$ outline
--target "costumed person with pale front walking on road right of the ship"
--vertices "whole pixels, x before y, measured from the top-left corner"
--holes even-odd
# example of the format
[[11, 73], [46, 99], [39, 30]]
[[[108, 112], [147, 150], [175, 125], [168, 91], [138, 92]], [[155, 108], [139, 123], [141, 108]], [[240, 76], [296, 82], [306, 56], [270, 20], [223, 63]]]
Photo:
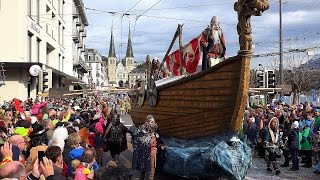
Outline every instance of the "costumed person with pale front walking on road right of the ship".
[[264, 129], [263, 141], [266, 148], [266, 161], [267, 161], [267, 170], [273, 170], [277, 175], [281, 173], [277, 164], [277, 156], [281, 155], [281, 150], [279, 148], [280, 143], [280, 133], [279, 133], [279, 120], [277, 117], [270, 119], [269, 124], [266, 129]]

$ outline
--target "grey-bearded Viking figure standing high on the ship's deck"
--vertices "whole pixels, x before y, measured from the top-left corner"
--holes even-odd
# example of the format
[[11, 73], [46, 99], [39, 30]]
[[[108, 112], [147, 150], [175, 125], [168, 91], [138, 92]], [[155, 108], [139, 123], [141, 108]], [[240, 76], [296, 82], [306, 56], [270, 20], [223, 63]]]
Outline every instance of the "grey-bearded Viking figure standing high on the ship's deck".
[[214, 66], [225, 59], [226, 42], [219, 19], [213, 16], [208, 27], [201, 36], [201, 46], [203, 49], [202, 70]]

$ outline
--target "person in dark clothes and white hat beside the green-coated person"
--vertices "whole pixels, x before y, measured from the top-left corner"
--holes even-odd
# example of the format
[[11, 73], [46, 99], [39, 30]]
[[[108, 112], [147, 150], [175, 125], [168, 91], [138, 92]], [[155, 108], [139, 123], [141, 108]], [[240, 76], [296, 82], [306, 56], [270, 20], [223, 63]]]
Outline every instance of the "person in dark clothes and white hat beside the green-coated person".
[[294, 121], [292, 123], [292, 129], [288, 136], [288, 147], [292, 160], [292, 167], [290, 169], [291, 171], [299, 170], [299, 143], [299, 122]]

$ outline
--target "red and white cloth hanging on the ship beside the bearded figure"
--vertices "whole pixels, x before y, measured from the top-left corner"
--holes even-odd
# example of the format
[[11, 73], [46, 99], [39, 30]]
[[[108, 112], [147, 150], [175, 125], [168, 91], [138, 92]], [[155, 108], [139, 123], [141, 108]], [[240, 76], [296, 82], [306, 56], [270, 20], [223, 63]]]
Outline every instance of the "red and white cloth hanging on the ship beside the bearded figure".
[[[183, 67], [186, 72], [194, 73], [197, 70], [200, 62], [200, 41], [201, 36], [192, 39], [188, 44], [184, 46], [183, 50]], [[180, 50], [176, 50], [169, 54], [166, 59], [166, 65], [170, 72], [176, 76], [180, 76]]]

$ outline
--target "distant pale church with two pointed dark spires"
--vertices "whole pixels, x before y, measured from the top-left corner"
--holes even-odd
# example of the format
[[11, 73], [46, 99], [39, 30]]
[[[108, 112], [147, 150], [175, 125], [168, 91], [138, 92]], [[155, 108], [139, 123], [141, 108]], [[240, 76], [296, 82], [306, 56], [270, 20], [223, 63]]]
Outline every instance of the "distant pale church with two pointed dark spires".
[[[119, 57], [121, 58], [121, 57]], [[110, 47], [108, 55], [108, 77], [109, 84], [119, 85], [126, 83], [129, 73], [135, 68], [134, 56], [132, 50], [131, 33], [129, 28], [128, 44], [126, 57], [117, 61], [116, 50], [114, 46], [113, 29], [111, 29]], [[121, 82], [122, 81], [122, 82]]]

